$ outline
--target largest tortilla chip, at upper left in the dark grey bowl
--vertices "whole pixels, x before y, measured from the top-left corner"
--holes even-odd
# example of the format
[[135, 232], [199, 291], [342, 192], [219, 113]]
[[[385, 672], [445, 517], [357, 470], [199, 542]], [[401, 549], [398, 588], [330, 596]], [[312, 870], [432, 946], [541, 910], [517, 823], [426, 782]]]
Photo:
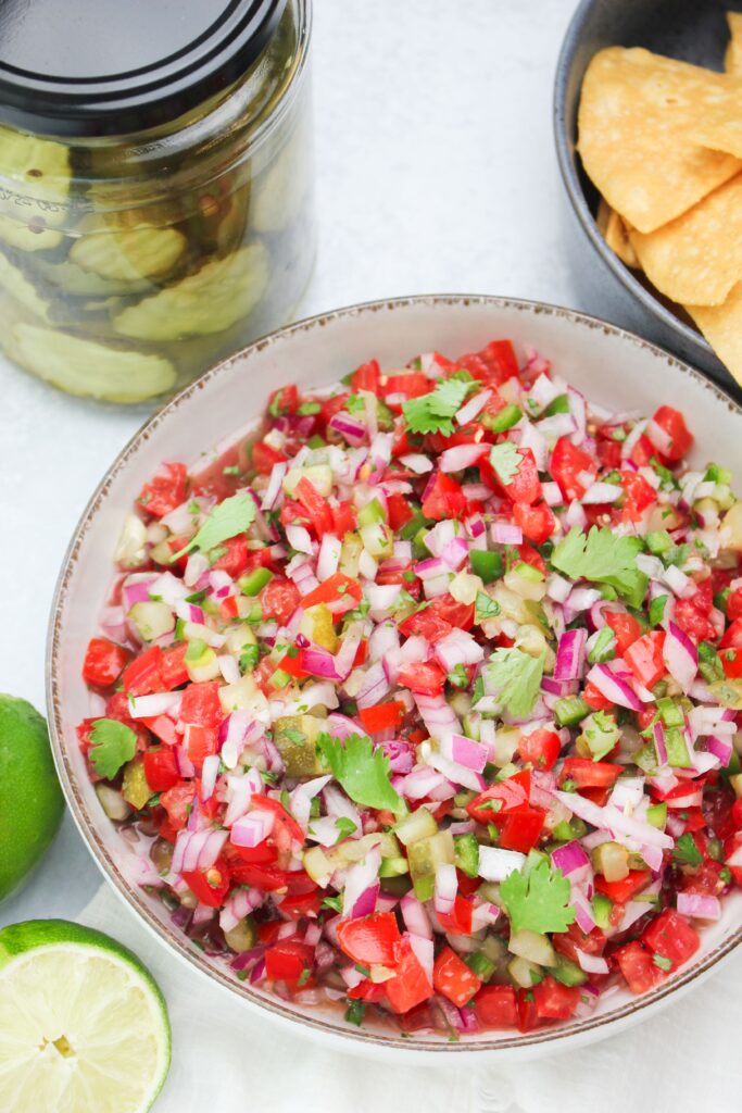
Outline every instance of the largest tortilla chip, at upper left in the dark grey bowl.
[[600, 193], [633, 227], [654, 232], [742, 169], [740, 159], [690, 138], [716, 106], [742, 117], [742, 80], [641, 48], [610, 47], [593, 58], [578, 149]]

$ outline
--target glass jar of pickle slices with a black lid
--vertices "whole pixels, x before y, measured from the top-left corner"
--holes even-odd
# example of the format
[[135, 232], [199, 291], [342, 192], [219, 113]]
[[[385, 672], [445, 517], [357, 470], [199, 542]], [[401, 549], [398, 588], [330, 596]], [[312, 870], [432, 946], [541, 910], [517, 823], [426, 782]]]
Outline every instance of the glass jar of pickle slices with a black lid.
[[[174, 16], [190, 10], [177, 3]], [[40, 4], [55, 6], [69, 12]], [[140, 48], [147, 55], [147, 4], [120, 7], [135, 24], [121, 48], [131, 67]], [[149, 48], [162, 57], [147, 56], [126, 88], [108, 38], [116, 77], [82, 93], [82, 66], [99, 70], [77, 55], [70, 65], [71, 47], [65, 78], [37, 82], [32, 96], [28, 81], [18, 89], [13, 58], [0, 58], [0, 347], [69, 393], [120, 403], [170, 394], [286, 321], [309, 278], [310, 0], [217, 3], [231, 23], [216, 60], [205, 60], [202, 7], [192, 3], [194, 42], [181, 53], [200, 53], [185, 76], [167, 26], [162, 48]], [[206, 7], [211, 21], [215, 0]], [[235, 9], [247, 21], [237, 31]], [[89, 11], [100, 18], [95, 2]], [[95, 27], [87, 33], [96, 39]]]

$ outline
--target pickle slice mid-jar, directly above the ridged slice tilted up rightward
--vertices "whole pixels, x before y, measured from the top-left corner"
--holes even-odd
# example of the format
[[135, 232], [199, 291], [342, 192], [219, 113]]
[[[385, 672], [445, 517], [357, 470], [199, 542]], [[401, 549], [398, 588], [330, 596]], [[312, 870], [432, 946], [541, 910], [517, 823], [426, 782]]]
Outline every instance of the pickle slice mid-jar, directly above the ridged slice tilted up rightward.
[[70, 250], [70, 262], [112, 282], [162, 278], [170, 274], [187, 247], [186, 237], [176, 228], [148, 224], [126, 227], [120, 220], [86, 218], [82, 230], [83, 235]]

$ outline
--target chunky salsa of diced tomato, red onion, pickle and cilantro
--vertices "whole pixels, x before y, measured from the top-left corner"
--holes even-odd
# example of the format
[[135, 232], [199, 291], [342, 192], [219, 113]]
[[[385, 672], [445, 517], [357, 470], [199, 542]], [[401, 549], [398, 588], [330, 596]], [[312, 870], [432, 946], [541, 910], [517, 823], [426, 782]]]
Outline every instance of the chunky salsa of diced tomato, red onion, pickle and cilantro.
[[687, 962], [742, 884], [742, 503], [508, 341], [137, 496], [79, 725], [137, 880], [284, 998], [455, 1037]]

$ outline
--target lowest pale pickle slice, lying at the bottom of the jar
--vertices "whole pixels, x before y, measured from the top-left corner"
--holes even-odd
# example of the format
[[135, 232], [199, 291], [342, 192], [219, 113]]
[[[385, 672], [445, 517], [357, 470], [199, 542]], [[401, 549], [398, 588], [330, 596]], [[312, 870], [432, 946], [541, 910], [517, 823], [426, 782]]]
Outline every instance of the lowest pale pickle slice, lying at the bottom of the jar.
[[27, 371], [68, 394], [108, 402], [142, 402], [169, 391], [176, 381], [176, 370], [164, 356], [23, 323], [11, 329], [7, 351]]

